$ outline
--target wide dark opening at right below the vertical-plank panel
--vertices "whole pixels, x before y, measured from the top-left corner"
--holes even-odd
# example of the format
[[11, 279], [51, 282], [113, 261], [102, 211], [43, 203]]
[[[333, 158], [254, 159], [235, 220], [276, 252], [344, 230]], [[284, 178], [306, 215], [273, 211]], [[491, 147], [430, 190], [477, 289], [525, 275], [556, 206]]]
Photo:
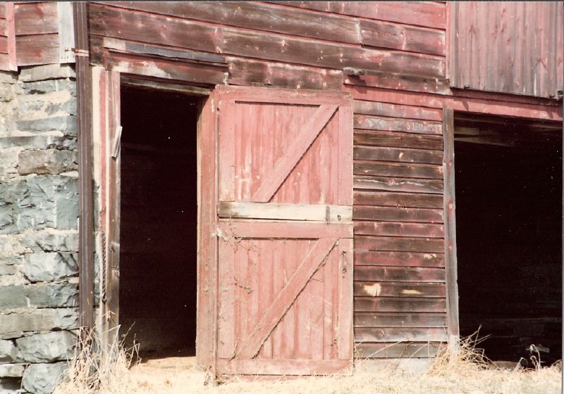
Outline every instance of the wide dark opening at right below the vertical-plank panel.
[[455, 193], [461, 336], [481, 326], [494, 361], [560, 359], [562, 124], [460, 115]]

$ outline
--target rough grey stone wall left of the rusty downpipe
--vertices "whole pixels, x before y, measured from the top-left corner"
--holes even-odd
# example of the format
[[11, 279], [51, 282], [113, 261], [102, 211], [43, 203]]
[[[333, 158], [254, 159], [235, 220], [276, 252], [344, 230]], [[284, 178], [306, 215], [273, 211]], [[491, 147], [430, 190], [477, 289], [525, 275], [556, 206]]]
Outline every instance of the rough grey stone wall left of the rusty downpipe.
[[51, 393], [78, 328], [75, 73], [0, 73], [0, 393]]

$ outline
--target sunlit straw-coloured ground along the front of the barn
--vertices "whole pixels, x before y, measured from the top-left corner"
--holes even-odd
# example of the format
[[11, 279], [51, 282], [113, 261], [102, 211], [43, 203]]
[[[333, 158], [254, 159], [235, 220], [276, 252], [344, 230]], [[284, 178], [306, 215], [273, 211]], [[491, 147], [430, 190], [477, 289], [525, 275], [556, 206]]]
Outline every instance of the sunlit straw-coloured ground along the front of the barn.
[[561, 393], [561, 372], [557, 367], [514, 371], [472, 370], [433, 374], [405, 371], [360, 372], [343, 377], [253, 380], [233, 379], [219, 385], [206, 384], [192, 357], [150, 360], [130, 369], [128, 386], [136, 394], [557, 394]]

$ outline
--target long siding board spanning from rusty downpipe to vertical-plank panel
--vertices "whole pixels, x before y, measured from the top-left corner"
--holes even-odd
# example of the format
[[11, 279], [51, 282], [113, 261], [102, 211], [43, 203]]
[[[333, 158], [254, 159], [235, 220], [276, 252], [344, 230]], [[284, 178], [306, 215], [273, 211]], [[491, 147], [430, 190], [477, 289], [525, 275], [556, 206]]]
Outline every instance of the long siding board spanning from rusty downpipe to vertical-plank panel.
[[108, 5], [92, 4], [90, 11], [92, 34], [108, 37], [130, 40], [143, 37], [145, 42], [152, 44], [166, 43], [178, 48], [341, 70], [347, 66], [377, 67], [379, 70], [426, 77], [443, 77], [446, 72], [444, 59], [431, 55], [380, 51], [277, 33], [216, 27]]

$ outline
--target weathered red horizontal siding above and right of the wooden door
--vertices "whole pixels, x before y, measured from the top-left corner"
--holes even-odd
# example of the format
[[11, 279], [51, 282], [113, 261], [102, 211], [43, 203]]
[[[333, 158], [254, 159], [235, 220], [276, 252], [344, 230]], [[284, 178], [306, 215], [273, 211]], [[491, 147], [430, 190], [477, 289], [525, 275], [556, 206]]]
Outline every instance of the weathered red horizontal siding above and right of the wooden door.
[[92, 61], [106, 68], [206, 86], [353, 94], [354, 321], [363, 357], [429, 357], [446, 341], [443, 108], [562, 120], [553, 101], [451, 90], [446, 8], [89, 4]]

